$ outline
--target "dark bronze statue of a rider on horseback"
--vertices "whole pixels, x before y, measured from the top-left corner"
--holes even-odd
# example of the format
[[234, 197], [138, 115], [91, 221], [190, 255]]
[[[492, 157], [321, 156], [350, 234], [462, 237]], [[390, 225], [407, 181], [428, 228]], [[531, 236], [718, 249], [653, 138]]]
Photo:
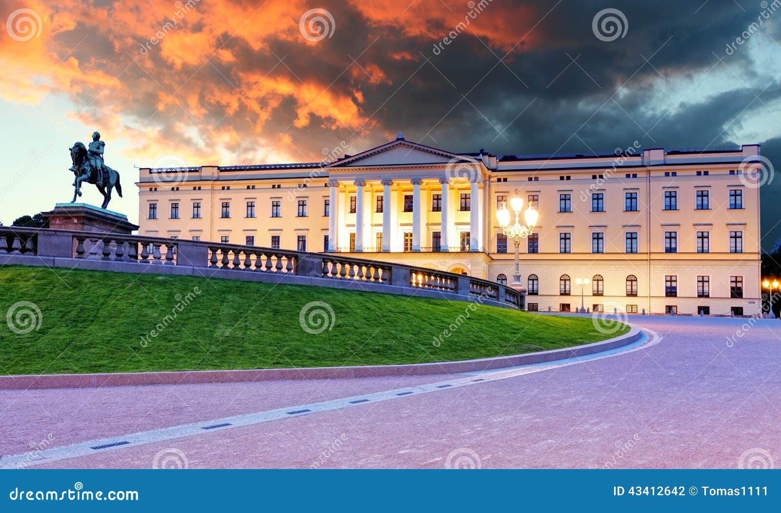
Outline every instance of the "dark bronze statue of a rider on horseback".
[[111, 201], [111, 189], [116, 189], [119, 197], [122, 197], [122, 186], [119, 185], [119, 173], [103, 162], [103, 149], [105, 143], [100, 140], [100, 133], [92, 133], [92, 142], [87, 148], [84, 143], [77, 142], [70, 148], [70, 160], [73, 161], [70, 171], [76, 175], [73, 181], [73, 200], [76, 203], [77, 196], [81, 196], [81, 183], [95, 184], [103, 195], [101, 208], [109, 206]]

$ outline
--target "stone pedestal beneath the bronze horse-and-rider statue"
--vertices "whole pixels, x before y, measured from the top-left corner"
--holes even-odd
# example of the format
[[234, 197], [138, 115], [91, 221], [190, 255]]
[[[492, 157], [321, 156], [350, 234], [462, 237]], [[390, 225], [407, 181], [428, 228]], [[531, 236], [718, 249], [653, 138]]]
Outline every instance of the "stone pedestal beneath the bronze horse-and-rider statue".
[[53, 211], [42, 214], [48, 219], [49, 228], [55, 230], [130, 235], [138, 229], [137, 225], [127, 221], [127, 215], [87, 203], [56, 203]]

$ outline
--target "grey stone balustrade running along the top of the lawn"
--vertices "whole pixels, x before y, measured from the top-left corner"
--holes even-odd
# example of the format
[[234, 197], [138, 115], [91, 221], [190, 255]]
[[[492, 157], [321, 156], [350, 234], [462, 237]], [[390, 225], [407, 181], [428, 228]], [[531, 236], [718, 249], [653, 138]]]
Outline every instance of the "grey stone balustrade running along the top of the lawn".
[[153, 272], [319, 285], [523, 309], [506, 285], [425, 267], [217, 242], [0, 226], [0, 265]]

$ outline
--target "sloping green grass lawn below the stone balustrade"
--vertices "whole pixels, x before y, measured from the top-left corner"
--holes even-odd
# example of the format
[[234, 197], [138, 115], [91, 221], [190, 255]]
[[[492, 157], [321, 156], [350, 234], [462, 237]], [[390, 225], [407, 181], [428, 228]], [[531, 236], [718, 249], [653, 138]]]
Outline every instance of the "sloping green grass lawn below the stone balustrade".
[[[40, 309], [37, 331], [17, 334], [2, 322], [20, 301]], [[333, 309], [332, 329], [302, 329], [299, 313], [312, 301]], [[470, 304], [299, 285], [0, 267], [0, 373], [428, 363], [563, 348], [629, 329], [604, 335], [588, 318]], [[150, 336], [159, 324], [165, 326]]]

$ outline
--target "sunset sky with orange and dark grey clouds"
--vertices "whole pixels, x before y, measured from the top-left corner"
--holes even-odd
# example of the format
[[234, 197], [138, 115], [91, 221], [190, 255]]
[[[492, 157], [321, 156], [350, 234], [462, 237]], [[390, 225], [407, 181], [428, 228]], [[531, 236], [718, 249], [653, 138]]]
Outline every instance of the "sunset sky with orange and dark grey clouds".
[[[617, 37], [592, 26], [608, 8]], [[134, 166], [319, 161], [400, 129], [456, 152], [761, 143], [781, 162], [778, 0], [0, 0], [0, 15], [6, 225], [70, 200], [68, 148], [95, 129], [131, 220]], [[762, 191], [765, 249], [779, 184]]]

